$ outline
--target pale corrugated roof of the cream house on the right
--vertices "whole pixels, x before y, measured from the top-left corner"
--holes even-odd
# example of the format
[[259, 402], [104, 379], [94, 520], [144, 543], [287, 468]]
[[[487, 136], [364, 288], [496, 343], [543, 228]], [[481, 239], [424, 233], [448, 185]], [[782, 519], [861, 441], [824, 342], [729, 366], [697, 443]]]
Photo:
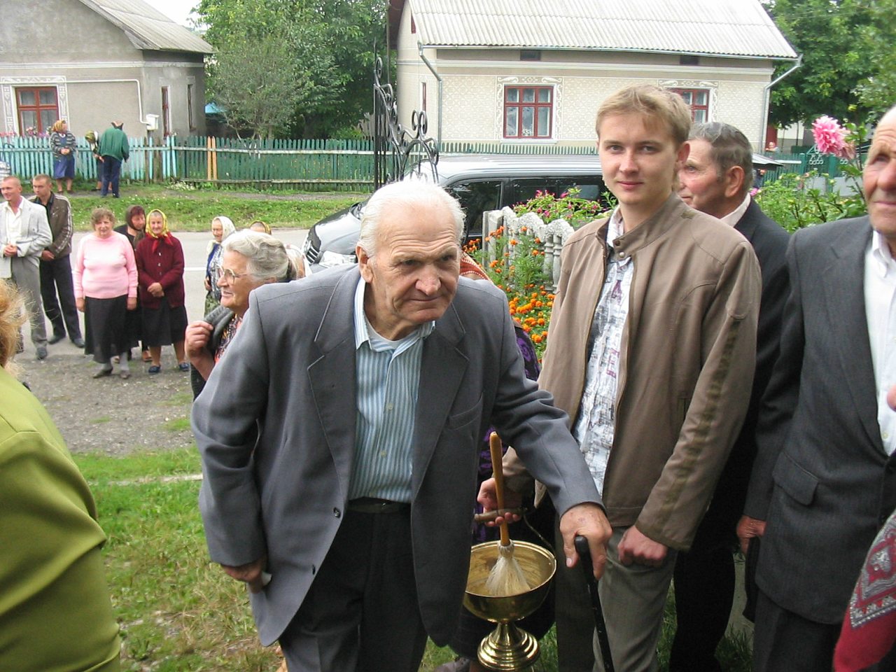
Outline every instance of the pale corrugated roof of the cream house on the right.
[[759, 0], [408, 0], [433, 47], [796, 58]]

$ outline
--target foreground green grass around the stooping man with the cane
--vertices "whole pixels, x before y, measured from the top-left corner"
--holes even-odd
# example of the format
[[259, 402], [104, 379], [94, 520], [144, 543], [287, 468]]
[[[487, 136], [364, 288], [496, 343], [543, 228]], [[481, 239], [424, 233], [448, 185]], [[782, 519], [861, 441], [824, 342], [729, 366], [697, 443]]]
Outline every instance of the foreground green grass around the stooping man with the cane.
[[[123, 669], [129, 672], [274, 672], [280, 659], [258, 642], [243, 584], [211, 563], [196, 498], [200, 472], [193, 448], [127, 457], [77, 454], [90, 483], [104, 547], [113, 606], [122, 629]], [[671, 600], [670, 600], [671, 602]], [[667, 606], [659, 647], [668, 668], [674, 607]], [[556, 672], [553, 630], [541, 641], [536, 670]], [[722, 642], [724, 669], [748, 672], [744, 636]], [[421, 672], [454, 659], [432, 642]]]

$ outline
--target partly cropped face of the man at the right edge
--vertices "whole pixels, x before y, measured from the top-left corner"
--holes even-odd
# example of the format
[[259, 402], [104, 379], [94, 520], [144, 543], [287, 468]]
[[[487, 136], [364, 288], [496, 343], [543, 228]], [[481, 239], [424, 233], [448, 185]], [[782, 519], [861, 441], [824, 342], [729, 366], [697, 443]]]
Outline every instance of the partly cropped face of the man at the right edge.
[[896, 110], [883, 116], [874, 132], [863, 179], [871, 226], [896, 254]]

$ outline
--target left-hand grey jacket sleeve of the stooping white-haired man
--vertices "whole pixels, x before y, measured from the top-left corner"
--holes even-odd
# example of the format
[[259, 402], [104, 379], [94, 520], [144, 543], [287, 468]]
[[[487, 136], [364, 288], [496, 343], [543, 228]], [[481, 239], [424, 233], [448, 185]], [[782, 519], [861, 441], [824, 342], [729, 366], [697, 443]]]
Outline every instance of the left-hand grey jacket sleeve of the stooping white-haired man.
[[228, 357], [211, 369], [192, 413], [202, 457], [199, 507], [205, 538], [211, 559], [229, 565], [253, 562], [267, 548], [252, 455], [270, 371], [263, 311], [254, 293], [249, 306]]

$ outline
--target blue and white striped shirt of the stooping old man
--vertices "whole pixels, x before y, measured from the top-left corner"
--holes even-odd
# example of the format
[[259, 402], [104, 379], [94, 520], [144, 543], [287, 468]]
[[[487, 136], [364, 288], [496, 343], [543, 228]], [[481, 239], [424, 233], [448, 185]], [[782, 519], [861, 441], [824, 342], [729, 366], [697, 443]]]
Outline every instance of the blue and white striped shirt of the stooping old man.
[[423, 340], [435, 322], [400, 340], [384, 339], [364, 312], [366, 282], [355, 291], [355, 369], [358, 378], [355, 460], [349, 500], [379, 497], [410, 502], [411, 463]]

